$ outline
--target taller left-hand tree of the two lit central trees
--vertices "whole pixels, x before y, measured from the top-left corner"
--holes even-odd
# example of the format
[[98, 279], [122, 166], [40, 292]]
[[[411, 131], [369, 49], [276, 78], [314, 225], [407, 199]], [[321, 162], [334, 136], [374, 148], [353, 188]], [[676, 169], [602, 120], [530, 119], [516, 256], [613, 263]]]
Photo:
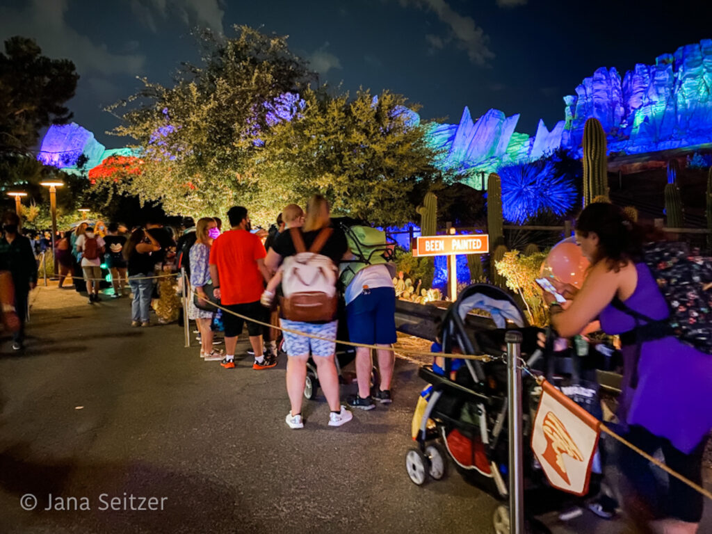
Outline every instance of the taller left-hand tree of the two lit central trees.
[[142, 201], [161, 201], [169, 213], [216, 215], [246, 203], [241, 140], [267, 127], [266, 104], [304, 88], [311, 79], [286, 38], [236, 26], [224, 41], [201, 33], [202, 66], [184, 65], [175, 85], [144, 79], [144, 89], [112, 106], [127, 108], [116, 135], [132, 137], [141, 173], [122, 182]]

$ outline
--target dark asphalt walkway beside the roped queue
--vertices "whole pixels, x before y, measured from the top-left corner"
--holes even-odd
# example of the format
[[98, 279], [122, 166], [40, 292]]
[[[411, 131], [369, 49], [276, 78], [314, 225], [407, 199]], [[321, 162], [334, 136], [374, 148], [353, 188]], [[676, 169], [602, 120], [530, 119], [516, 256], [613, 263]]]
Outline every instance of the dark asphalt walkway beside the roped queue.
[[[332, 428], [320, 396], [295, 431], [284, 423], [286, 358], [224, 370], [195, 342], [184, 348], [176, 325], [130, 328], [126, 298], [90, 306], [39, 288], [32, 300], [26, 350], [9, 354], [6, 342], [0, 355], [1, 533], [493, 531], [496, 501], [452, 466], [443, 481], [409, 481], [424, 386], [413, 362], [397, 361], [390, 407]], [[624, 532], [587, 511], [548, 523]]]

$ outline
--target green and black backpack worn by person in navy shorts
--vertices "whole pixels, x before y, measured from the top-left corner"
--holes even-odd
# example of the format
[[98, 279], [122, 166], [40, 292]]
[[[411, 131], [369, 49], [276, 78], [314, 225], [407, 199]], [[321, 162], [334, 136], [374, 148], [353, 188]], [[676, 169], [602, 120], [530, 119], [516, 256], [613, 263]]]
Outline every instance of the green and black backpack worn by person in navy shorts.
[[356, 274], [370, 265], [387, 265], [391, 276], [395, 276], [393, 263], [394, 243], [389, 243], [386, 233], [371, 226], [342, 224], [346, 241], [355, 259], [340, 264], [339, 281], [347, 288]]

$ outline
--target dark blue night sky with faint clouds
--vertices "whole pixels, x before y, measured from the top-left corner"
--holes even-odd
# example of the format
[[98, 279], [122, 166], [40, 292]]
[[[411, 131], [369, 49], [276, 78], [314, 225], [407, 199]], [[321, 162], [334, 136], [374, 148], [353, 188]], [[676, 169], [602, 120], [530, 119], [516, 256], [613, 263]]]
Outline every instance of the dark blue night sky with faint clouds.
[[0, 38], [36, 38], [74, 61], [81, 78], [74, 121], [107, 147], [117, 124], [103, 106], [169, 83], [197, 61], [196, 26], [234, 35], [234, 24], [288, 35], [320, 80], [347, 90], [389, 89], [422, 117], [459, 122], [464, 106], [521, 113], [519, 132], [564, 117], [562, 97], [601, 66], [619, 72], [712, 38], [709, 1], [547, 0], [0, 0]]

